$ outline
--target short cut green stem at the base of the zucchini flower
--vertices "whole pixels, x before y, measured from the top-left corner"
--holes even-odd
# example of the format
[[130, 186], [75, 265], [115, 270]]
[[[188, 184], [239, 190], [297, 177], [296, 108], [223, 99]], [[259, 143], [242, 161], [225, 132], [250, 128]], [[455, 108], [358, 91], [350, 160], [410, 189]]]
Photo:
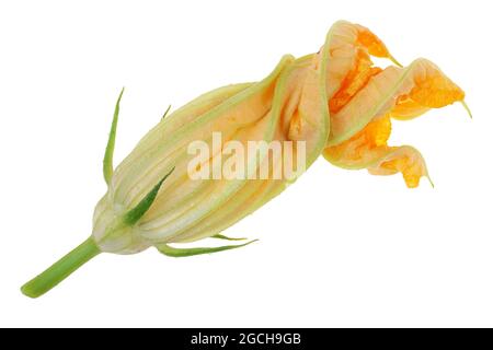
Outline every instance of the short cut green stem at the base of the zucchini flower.
[[89, 237], [85, 242], [47, 268], [43, 273], [22, 285], [21, 291], [30, 298], [38, 298], [91, 260], [101, 250]]

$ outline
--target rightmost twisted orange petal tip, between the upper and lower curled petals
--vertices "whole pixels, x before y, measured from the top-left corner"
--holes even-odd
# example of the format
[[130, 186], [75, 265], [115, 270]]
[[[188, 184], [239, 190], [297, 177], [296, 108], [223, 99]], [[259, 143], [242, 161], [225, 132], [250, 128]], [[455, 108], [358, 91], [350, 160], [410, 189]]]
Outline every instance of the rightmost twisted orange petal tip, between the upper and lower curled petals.
[[[399, 105], [401, 96], [409, 96], [412, 103], [406, 107]], [[406, 69], [388, 67], [374, 75], [339, 113], [331, 115], [328, 145], [351, 139], [375, 117], [389, 113], [398, 117], [420, 115], [426, 108], [443, 107], [463, 97], [463, 91], [428, 60], [415, 60]]]

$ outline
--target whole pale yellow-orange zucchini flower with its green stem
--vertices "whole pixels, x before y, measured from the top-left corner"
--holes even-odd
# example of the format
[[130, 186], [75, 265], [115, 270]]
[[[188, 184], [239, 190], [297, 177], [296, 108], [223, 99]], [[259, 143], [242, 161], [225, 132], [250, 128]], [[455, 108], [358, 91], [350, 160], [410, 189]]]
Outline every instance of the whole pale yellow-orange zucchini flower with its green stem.
[[[393, 65], [376, 67], [371, 57]], [[27, 296], [44, 294], [103, 252], [153, 246], [186, 257], [245, 246], [254, 241], [176, 244], [242, 240], [221, 232], [279, 195], [321, 154], [344, 168], [402, 173], [416, 187], [428, 176], [425, 162], [412, 147], [387, 144], [391, 120], [455, 102], [466, 106], [462, 90], [435, 65], [419, 59], [403, 68], [375, 34], [348, 22], [335, 23], [317, 54], [287, 55], [265, 79], [219, 88], [164, 116], [114, 170], [122, 94], [103, 162], [107, 191], [95, 207], [92, 235], [24, 284]]]

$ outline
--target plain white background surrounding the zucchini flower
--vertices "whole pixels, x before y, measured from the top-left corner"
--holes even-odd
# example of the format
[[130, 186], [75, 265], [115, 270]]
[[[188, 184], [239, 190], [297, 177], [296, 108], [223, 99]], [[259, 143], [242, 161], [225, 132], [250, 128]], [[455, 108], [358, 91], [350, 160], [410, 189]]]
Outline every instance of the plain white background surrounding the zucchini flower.
[[[489, 1], [2, 1], [1, 326], [493, 326]], [[122, 86], [116, 159], [213, 88], [313, 52], [340, 19], [404, 63], [426, 57], [467, 92], [395, 122], [436, 188], [335, 168], [229, 229], [240, 250], [172, 259], [101, 255], [30, 300], [19, 288], [91, 232]]]

